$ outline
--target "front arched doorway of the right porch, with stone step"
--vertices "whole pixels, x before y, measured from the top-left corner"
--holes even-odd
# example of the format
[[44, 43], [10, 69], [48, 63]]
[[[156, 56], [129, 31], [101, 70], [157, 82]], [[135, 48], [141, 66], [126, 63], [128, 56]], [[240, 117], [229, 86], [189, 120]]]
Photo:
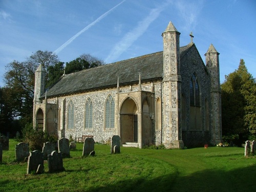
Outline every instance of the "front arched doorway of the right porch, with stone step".
[[138, 109], [132, 98], [126, 98], [120, 110], [121, 143], [138, 142]]

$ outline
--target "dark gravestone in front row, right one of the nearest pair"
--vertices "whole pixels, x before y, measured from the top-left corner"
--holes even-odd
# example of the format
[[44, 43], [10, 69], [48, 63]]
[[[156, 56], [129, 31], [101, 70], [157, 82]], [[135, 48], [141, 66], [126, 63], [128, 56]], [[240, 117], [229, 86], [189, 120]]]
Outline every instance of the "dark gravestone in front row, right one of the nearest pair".
[[58, 172], [64, 170], [61, 152], [53, 151], [48, 156], [49, 172]]

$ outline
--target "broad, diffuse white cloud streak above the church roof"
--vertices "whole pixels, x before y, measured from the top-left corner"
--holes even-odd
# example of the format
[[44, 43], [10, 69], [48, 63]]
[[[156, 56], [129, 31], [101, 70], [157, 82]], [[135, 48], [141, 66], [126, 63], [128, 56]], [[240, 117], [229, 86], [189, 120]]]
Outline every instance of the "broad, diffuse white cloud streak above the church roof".
[[116, 43], [114, 48], [111, 50], [108, 57], [106, 57], [105, 62], [110, 63], [115, 61], [125, 50], [127, 50], [134, 41], [136, 41], [150, 26], [152, 22], [159, 16], [159, 14], [163, 11], [164, 8], [169, 4], [170, 2], [166, 2], [165, 4], [162, 4], [161, 6], [152, 9], [150, 14], [148, 14], [147, 17], [145, 17], [143, 20], [141, 20], [137, 27], [135, 27], [132, 31], [126, 33], [123, 38]]

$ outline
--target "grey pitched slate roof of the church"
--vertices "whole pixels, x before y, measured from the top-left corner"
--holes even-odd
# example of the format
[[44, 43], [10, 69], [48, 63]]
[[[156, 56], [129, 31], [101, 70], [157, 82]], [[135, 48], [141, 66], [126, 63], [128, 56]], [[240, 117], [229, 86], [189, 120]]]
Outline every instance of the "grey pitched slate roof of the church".
[[[190, 47], [190, 44], [180, 47], [181, 58]], [[114, 88], [117, 87], [117, 78], [119, 79], [119, 86], [138, 83], [139, 73], [142, 82], [161, 79], [163, 76], [163, 52], [143, 55], [63, 75], [47, 90], [47, 97], [51, 98], [90, 90]], [[41, 98], [43, 97], [45, 97], [45, 93], [41, 95]]]

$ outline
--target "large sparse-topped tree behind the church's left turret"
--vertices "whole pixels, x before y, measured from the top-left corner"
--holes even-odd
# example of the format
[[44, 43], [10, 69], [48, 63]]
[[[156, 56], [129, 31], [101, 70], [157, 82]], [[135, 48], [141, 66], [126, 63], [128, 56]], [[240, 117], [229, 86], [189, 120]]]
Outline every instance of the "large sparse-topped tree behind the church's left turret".
[[20, 119], [23, 125], [32, 122], [35, 70], [39, 64], [42, 64], [46, 69], [48, 82], [53, 78], [48, 75], [49, 68], [51, 69], [51, 66], [57, 65], [58, 62], [57, 55], [52, 52], [37, 51], [25, 62], [14, 60], [6, 66], [7, 72], [4, 74], [4, 81], [8, 98], [5, 102], [12, 110], [10, 118]]

